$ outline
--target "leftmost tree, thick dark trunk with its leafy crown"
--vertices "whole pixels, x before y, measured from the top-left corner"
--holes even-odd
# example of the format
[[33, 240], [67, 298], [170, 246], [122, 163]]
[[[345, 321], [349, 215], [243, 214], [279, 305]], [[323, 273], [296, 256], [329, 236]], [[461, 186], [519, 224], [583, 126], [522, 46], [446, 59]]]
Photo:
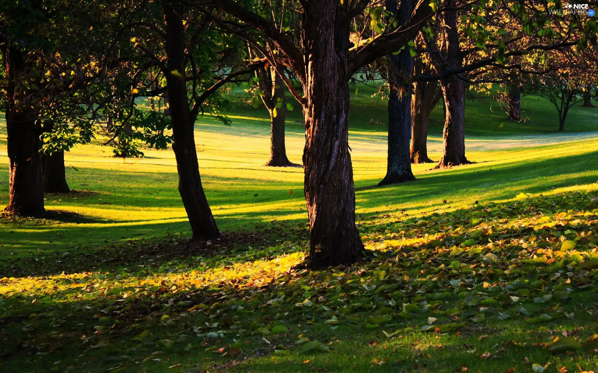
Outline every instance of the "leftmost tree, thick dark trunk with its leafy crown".
[[0, 8], [0, 83], [10, 173], [5, 211], [41, 216], [40, 137], [52, 128], [45, 119], [86, 104], [86, 87], [96, 80], [101, 65], [90, 56], [105, 42], [98, 27], [105, 23], [100, 16], [105, 13], [102, 5], [74, 0], [1, 0]]

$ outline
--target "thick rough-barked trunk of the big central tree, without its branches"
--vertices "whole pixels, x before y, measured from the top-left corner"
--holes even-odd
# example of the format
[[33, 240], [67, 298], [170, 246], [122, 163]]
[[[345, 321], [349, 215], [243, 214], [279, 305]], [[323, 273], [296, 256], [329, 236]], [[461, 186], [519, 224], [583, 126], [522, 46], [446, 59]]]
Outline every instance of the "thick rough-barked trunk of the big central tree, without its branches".
[[[307, 79], [303, 113], [304, 190], [311, 229], [309, 267], [361, 260], [349, 154], [349, 20], [338, 0], [307, 3], [302, 36]], [[334, 31], [333, 31], [334, 30]]]

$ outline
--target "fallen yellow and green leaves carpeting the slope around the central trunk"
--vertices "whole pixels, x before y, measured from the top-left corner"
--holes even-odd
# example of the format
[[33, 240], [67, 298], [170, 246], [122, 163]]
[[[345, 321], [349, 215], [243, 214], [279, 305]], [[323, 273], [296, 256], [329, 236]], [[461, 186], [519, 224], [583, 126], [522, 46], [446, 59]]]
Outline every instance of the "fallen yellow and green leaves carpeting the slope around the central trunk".
[[[389, 339], [460, 335], [493, 319], [544, 328], [575, 317], [565, 307], [573, 295], [598, 300], [597, 229], [598, 204], [587, 192], [520, 195], [360, 226], [367, 260], [350, 267], [295, 269], [309, 247], [304, 229], [290, 239], [277, 231], [280, 241], [270, 246], [167, 261], [157, 255], [154, 263], [127, 257], [147, 255], [144, 242], [105, 248], [96, 259], [127, 257], [126, 268], [105, 272], [45, 276], [36, 272], [56, 273], [53, 264], [24, 265], [21, 272], [33, 272], [28, 277], [0, 279], [3, 356], [33, 353], [31, 364], [60, 368], [52, 355], [71, 349], [81, 354], [68, 363], [86, 366], [86, 354], [128, 341], [102, 364], [126, 367], [190, 350], [240, 362], [329, 353], [334, 344], [306, 334], [312, 326]], [[541, 347], [591, 350], [598, 340], [592, 338], [562, 337]]]

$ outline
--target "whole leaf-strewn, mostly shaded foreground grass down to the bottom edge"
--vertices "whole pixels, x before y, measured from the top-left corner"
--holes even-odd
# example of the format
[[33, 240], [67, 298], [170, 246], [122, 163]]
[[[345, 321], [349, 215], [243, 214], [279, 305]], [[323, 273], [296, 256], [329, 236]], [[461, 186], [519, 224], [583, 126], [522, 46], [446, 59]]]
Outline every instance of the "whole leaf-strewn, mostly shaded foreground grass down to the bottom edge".
[[166, 242], [152, 252], [132, 241], [87, 263], [65, 260], [94, 261], [99, 271], [45, 276], [65, 264], [21, 264], [33, 275], [0, 280], [4, 366], [590, 370], [598, 364], [596, 192], [522, 194], [362, 227], [367, 260], [323, 271], [293, 270], [306, 231], [280, 225], [234, 238], [239, 248], [225, 239], [181, 254], [172, 236], [172, 252]]

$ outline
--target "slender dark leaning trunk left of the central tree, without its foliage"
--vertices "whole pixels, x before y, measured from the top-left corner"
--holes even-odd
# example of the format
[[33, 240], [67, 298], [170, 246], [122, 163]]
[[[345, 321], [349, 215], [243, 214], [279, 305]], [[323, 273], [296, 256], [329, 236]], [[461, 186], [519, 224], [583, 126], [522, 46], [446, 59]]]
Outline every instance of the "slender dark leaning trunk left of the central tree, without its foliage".
[[182, 9], [168, 3], [164, 3], [163, 7], [166, 20], [166, 82], [174, 140], [172, 149], [179, 174], [179, 193], [191, 224], [193, 240], [205, 241], [218, 238], [220, 233], [203, 192], [199, 174], [194, 138], [195, 118], [189, 108], [185, 81]]

